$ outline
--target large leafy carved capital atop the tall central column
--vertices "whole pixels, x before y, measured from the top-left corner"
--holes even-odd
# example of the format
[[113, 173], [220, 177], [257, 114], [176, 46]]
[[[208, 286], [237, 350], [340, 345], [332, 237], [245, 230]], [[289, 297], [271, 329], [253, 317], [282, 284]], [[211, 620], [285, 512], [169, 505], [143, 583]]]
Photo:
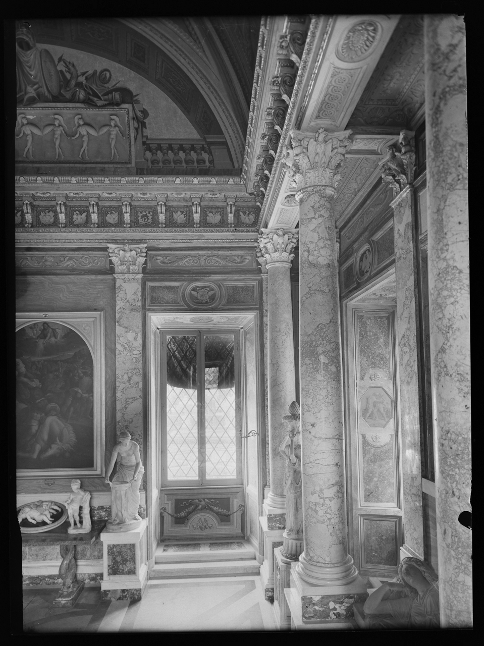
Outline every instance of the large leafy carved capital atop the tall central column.
[[290, 130], [291, 145], [286, 146], [284, 163], [289, 179], [296, 189], [308, 186], [335, 188], [340, 180], [339, 171], [345, 159], [346, 149], [352, 141], [351, 130], [317, 132]]

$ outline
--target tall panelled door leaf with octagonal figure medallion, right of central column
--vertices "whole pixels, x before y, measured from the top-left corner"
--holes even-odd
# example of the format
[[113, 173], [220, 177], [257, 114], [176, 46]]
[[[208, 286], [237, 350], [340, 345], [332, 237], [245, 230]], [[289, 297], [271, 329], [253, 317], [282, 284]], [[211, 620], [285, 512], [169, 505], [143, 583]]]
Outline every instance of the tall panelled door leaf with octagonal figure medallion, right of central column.
[[388, 577], [403, 543], [394, 308], [347, 308], [348, 547], [361, 574]]

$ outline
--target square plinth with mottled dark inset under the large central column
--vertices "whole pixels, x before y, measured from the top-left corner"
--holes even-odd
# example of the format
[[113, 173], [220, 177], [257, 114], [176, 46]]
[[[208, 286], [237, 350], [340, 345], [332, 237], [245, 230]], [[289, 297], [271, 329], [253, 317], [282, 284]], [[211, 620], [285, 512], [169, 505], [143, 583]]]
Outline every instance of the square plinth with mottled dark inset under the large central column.
[[317, 625], [320, 629], [354, 630], [353, 603], [368, 599], [366, 584], [359, 574], [346, 585], [312, 585], [300, 577], [298, 566], [291, 567], [291, 589], [286, 599], [295, 629]]

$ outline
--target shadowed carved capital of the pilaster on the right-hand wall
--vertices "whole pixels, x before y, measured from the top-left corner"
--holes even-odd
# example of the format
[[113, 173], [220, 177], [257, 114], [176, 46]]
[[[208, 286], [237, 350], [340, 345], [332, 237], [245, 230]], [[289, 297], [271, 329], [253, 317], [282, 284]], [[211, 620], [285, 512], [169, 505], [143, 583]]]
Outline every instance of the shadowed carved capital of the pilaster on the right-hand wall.
[[392, 187], [394, 200], [414, 181], [414, 135], [412, 130], [402, 130], [398, 143], [387, 146], [386, 157], [380, 162], [381, 178]]

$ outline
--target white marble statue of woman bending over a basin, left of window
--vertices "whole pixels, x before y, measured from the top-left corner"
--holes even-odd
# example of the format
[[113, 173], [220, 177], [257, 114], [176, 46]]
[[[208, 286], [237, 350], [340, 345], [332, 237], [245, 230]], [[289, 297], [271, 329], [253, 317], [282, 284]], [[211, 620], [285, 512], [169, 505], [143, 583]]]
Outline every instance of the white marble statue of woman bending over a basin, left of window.
[[[116, 475], [110, 481], [114, 464]], [[144, 471], [140, 447], [131, 440], [127, 431], [122, 431], [118, 444], [112, 450], [105, 480], [111, 487], [111, 520], [107, 523], [107, 529], [123, 531], [140, 526], [142, 519], [138, 516], [138, 508]]]

